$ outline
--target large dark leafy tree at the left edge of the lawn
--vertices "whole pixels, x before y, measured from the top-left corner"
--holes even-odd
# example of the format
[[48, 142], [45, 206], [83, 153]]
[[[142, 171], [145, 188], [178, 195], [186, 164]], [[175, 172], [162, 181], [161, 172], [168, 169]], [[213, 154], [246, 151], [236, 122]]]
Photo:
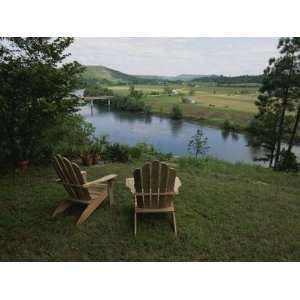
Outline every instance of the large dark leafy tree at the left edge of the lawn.
[[0, 39], [0, 126], [8, 159], [33, 159], [47, 129], [76, 111], [78, 100], [63, 100], [76, 87], [82, 67], [67, 47], [72, 38]]

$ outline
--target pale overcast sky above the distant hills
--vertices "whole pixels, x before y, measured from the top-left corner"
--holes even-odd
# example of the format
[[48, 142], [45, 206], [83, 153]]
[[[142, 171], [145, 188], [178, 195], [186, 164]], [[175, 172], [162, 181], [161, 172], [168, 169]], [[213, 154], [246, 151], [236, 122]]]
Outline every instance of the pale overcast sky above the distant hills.
[[72, 59], [133, 75], [257, 75], [278, 38], [75, 38]]

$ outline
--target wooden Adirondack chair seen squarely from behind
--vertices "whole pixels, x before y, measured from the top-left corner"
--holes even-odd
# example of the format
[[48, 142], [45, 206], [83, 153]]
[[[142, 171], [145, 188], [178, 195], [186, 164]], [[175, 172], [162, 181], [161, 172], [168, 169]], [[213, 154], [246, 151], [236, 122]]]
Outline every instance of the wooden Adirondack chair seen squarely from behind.
[[174, 196], [181, 186], [176, 171], [165, 163], [153, 161], [126, 178], [126, 186], [134, 197], [134, 235], [137, 231], [137, 215], [144, 213], [171, 213], [174, 233], [177, 235]]

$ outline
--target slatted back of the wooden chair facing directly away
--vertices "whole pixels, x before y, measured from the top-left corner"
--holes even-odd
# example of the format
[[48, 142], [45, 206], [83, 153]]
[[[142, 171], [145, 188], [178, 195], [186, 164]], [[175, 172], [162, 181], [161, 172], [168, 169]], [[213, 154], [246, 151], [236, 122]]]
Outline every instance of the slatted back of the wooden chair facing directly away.
[[133, 177], [138, 208], [159, 209], [171, 205], [175, 194], [175, 169], [154, 161], [136, 169]]

